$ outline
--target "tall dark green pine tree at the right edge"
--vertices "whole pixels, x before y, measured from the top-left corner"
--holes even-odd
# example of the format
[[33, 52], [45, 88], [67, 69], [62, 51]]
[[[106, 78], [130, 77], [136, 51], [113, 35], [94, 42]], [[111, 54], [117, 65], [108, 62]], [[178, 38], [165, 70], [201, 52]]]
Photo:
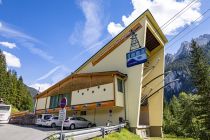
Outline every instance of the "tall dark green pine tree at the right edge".
[[202, 49], [192, 40], [190, 51], [190, 73], [199, 98], [196, 100], [197, 115], [203, 126], [210, 130], [210, 71]]

